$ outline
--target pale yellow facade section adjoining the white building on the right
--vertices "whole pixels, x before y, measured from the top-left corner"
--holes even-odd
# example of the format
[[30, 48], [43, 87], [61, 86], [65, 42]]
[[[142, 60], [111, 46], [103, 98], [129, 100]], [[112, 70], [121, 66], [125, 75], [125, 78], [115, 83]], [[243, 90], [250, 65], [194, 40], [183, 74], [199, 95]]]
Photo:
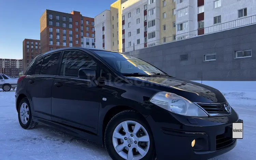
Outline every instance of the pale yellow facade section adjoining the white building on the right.
[[173, 28], [173, 22], [175, 22], [175, 15], [173, 15], [173, 9], [175, 9], [175, 2], [173, 0], [159, 0], [160, 1], [160, 39], [165, 38], [162, 42], [171, 42], [172, 36], [176, 34], [176, 28]]

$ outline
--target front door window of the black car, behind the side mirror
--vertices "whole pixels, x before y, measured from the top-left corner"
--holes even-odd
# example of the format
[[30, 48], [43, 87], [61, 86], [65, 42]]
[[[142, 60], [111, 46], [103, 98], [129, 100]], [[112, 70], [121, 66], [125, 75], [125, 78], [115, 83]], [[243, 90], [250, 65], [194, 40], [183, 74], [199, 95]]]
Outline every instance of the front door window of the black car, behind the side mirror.
[[97, 70], [97, 63], [86, 53], [80, 51], [65, 51], [60, 76], [78, 77], [80, 68]]

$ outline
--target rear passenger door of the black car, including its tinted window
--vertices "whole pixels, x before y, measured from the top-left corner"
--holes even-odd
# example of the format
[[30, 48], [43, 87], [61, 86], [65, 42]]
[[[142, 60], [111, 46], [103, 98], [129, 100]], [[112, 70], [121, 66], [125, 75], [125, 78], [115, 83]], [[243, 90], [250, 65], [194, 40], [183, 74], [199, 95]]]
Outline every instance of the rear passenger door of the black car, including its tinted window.
[[25, 77], [33, 116], [51, 120], [52, 85], [60, 54], [61, 51], [38, 58], [35, 61], [34, 73]]

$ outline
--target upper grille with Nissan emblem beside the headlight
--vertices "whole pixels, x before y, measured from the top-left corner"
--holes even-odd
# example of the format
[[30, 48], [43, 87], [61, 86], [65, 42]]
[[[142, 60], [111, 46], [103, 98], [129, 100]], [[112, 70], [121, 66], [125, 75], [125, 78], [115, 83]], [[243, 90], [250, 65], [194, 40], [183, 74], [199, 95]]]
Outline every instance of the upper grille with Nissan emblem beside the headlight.
[[[225, 109], [225, 105], [229, 106], [228, 102], [224, 103], [197, 103], [201, 108], [203, 108], [210, 116], [216, 115], [229, 115], [231, 112], [228, 112]], [[231, 111], [231, 108], [229, 107]]]

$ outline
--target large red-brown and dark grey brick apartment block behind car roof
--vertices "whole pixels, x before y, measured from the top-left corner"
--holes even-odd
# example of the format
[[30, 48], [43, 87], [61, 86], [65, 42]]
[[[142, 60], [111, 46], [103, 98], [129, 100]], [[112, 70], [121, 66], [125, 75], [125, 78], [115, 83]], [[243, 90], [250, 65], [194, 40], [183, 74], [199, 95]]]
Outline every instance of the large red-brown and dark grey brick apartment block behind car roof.
[[63, 47], [95, 48], [94, 18], [46, 10], [40, 18], [42, 53]]

